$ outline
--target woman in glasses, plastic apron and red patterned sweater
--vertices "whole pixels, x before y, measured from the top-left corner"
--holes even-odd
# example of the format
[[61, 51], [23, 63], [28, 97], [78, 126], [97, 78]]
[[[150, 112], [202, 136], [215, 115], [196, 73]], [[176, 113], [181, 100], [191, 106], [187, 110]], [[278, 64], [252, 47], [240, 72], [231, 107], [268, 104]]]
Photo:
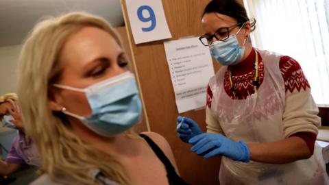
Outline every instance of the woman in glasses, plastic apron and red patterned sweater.
[[209, 80], [207, 133], [178, 116], [178, 136], [204, 158], [223, 156], [220, 184], [328, 184], [308, 81], [293, 58], [252, 47], [255, 23], [238, 1], [206, 5], [199, 40], [223, 66]]

